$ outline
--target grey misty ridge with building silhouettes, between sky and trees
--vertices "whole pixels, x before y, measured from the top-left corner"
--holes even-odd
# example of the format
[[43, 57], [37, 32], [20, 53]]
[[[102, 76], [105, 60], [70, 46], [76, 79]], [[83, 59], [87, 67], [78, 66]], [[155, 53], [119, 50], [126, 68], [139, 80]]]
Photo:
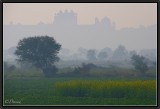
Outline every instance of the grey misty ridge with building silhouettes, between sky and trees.
[[91, 25], [79, 25], [77, 24], [77, 14], [68, 10], [55, 14], [53, 24], [41, 22], [38, 25], [4, 25], [4, 59], [15, 58], [13, 51], [19, 40], [38, 35], [49, 35], [62, 44], [59, 55], [64, 60], [86, 59], [85, 52], [89, 49], [100, 52], [108, 48], [111, 56], [120, 45], [128, 51], [135, 50], [143, 55], [148, 52], [153, 54], [150, 58], [156, 58], [156, 25], [120, 30], [116, 30], [115, 26], [116, 24], [108, 17], [102, 20], [95, 18], [95, 23]]

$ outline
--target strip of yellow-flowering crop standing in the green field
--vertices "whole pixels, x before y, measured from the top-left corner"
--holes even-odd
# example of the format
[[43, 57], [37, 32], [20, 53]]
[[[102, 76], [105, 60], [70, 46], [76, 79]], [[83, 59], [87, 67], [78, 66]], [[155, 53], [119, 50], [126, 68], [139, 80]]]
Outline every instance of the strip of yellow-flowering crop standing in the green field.
[[55, 83], [61, 96], [156, 99], [155, 80], [71, 80]]

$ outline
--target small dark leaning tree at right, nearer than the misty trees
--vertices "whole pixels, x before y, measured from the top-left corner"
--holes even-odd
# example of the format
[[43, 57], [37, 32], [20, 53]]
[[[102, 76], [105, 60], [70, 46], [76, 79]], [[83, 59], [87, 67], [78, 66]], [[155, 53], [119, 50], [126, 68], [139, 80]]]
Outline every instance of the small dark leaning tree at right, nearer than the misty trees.
[[145, 58], [143, 56], [133, 55], [131, 59], [135, 69], [139, 70], [141, 74], [144, 74], [148, 70], [147, 63], [145, 62]]

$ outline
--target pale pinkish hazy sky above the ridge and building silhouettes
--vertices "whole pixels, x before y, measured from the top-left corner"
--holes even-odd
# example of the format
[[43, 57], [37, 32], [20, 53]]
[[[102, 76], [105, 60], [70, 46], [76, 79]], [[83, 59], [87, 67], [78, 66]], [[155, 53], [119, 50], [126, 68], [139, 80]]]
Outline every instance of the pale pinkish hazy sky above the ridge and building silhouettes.
[[78, 24], [93, 24], [107, 16], [116, 28], [157, 24], [156, 3], [3, 3], [3, 23], [51, 24], [55, 13], [73, 10]]

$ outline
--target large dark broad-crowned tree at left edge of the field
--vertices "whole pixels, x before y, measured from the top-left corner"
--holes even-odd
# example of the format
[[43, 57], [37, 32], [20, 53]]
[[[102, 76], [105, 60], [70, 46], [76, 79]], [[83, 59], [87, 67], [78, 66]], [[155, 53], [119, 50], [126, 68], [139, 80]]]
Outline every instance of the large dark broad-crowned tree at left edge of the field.
[[57, 71], [54, 62], [59, 61], [57, 54], [60, 48], [53, 37], [35, 36], [20, 40], [15, 54], [18, 62], [29, 62], [42, 69], [46, 77], [51, 77]]

